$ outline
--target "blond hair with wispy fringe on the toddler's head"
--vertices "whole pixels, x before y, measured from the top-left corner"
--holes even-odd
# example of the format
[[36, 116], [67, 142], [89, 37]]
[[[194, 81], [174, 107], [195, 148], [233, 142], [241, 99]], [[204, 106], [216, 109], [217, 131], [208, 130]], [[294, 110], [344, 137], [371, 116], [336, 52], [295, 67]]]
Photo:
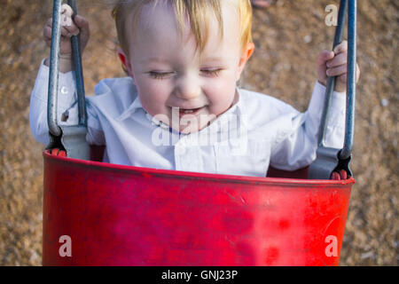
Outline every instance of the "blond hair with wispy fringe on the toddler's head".
[[[207, 22], [210, 12], [214, 12], [219, 22], [219, 34], [223, 37], [223, 17], [222, 17], [222, 1], [229, 1], [236, 4], [239, 11], [239, 28], [241, 51], [244, 51], [247, 43], [252, 43], [252, 8], [250, 0], [116, 0], [113, 4], [113, 20], [115, 20], [116, 30], [118, 34], [121, 49], [129, 55], [129, 48], [126, 36], [126, 21], [131, 12], [133, 13], [133, 33], [137, 27], [138, 16], [145, 4], [153, 4], [155, 6], [159, 2], [169, 4], [173, 7], [178, 28], [182, 32], [186, 20], [190, 21], [192, 34], [200, 51], [207, 45], [208, 27]], [[205, 23], [205, 29], [201, 28]]]

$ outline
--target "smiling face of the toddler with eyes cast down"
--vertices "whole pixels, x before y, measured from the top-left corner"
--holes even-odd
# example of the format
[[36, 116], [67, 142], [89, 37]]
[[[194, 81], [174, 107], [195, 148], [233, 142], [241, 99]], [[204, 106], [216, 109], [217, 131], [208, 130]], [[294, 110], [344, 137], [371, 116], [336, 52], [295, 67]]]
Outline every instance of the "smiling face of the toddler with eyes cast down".
[[129, 59], [121, 50], [120, 57], [149, 114], [190, 133], [206, 127], [234, 104], [236, 83], [254, 45], [241, 51], [239, 15], [229, 4], [223, 6], [223, 27], [221, 39], [218, 21], [209, 21], [207, 45], [200, 52], [190, 27], [179, 36], [172, 8], [145, 6], [135, 36], [128, 35]]

